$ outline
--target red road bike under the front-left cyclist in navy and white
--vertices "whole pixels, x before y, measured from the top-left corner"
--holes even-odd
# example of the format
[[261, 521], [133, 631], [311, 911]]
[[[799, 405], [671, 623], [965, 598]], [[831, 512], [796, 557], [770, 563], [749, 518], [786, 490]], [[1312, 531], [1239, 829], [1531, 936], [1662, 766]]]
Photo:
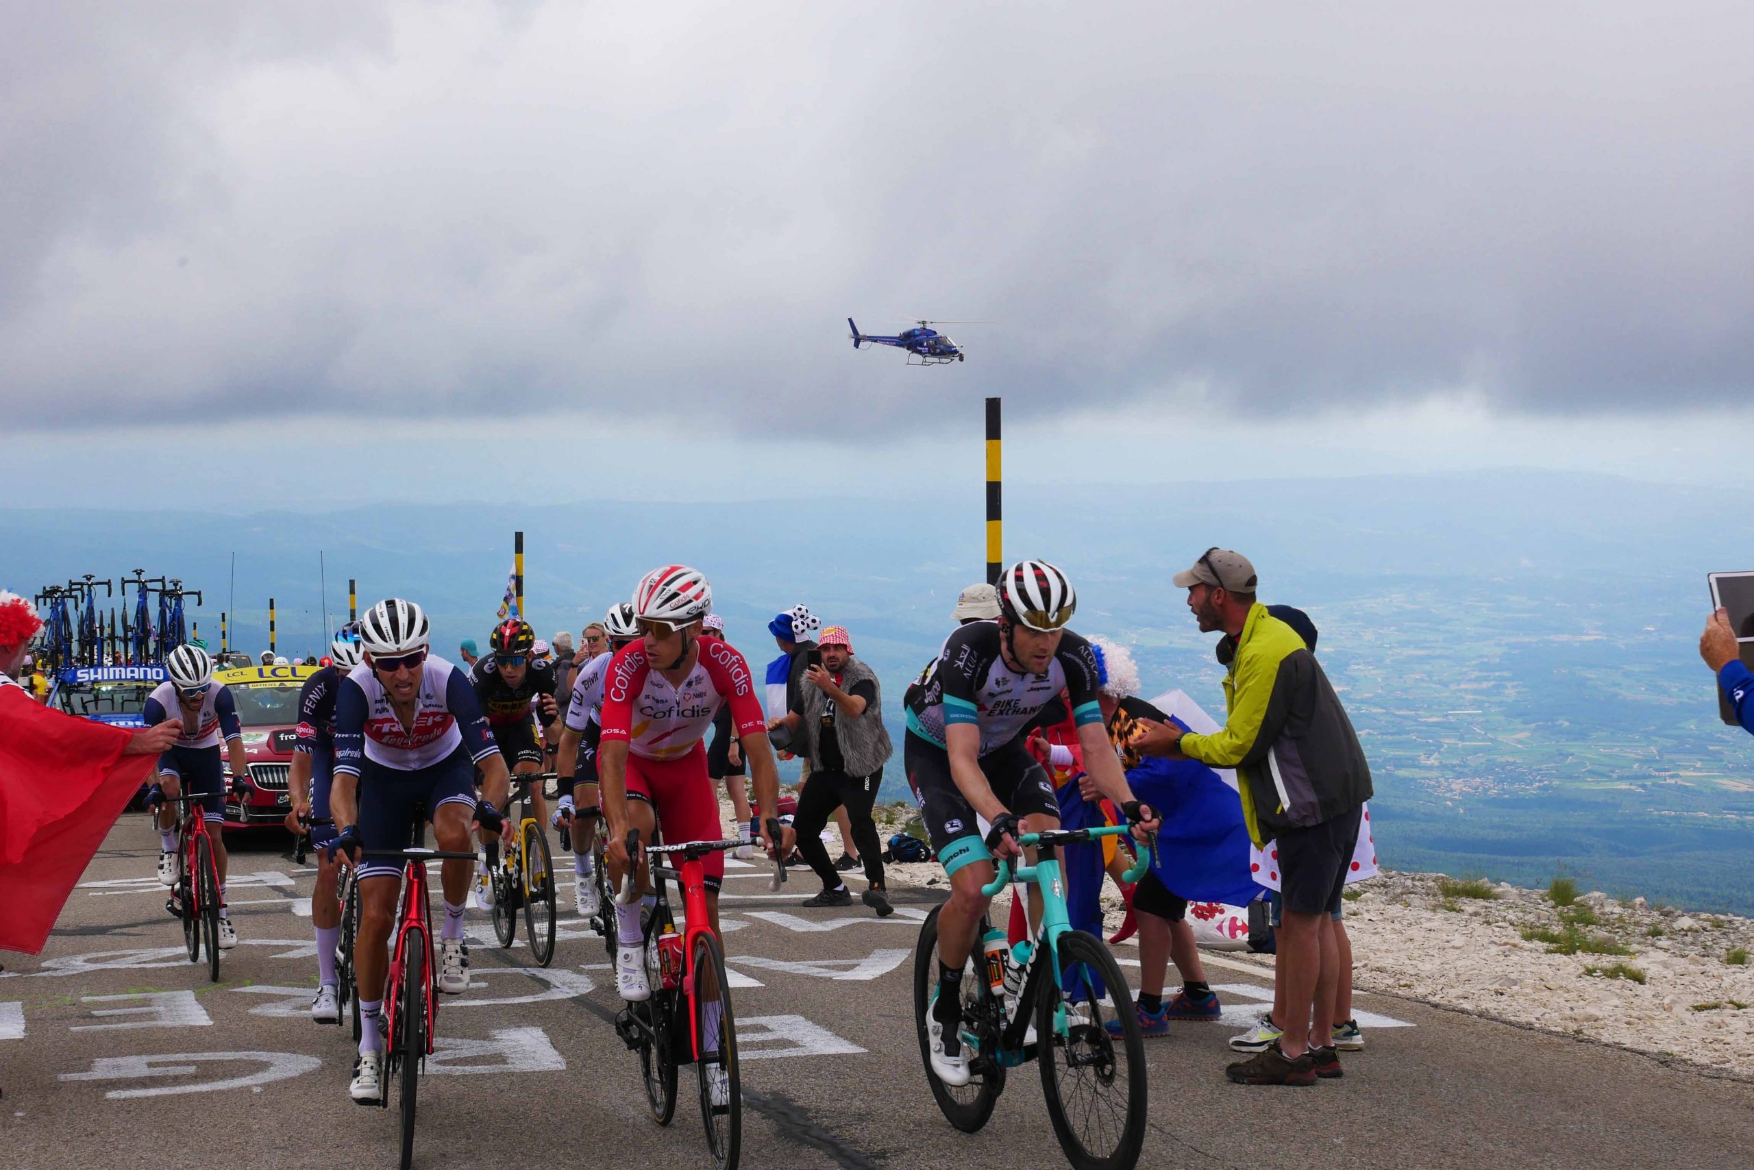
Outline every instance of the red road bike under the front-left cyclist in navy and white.
[[[402, 1170], [414, 1159], [414, 1110], [421, 1070], [433, 1052], [438, 1024], [438, 977], [433, 967], [431, 909], [426, 893], [428, 861], [475, 861], [475, 851], [426, 847], [426, 809], [414, 810], [414, 844], [407, 849], [361, 849], [361, 858], [396, 858], [402, 867], [402, 905], [396, 909], [396, 935], [384, 979], [384, 1028], [389, 1047], [384, 1056], [384, 1093], [377, 1103], [389, 1107], [389, 1082], [396, 1082], [402, 1107]], [[346, 919], [344, 919], [346, 924]], [[349, 963], [351, 967], [351, 963]], [[349, 972], [351, 974], [351, 972]], [[358, 996], [354, 998], [358, 1003]]]

